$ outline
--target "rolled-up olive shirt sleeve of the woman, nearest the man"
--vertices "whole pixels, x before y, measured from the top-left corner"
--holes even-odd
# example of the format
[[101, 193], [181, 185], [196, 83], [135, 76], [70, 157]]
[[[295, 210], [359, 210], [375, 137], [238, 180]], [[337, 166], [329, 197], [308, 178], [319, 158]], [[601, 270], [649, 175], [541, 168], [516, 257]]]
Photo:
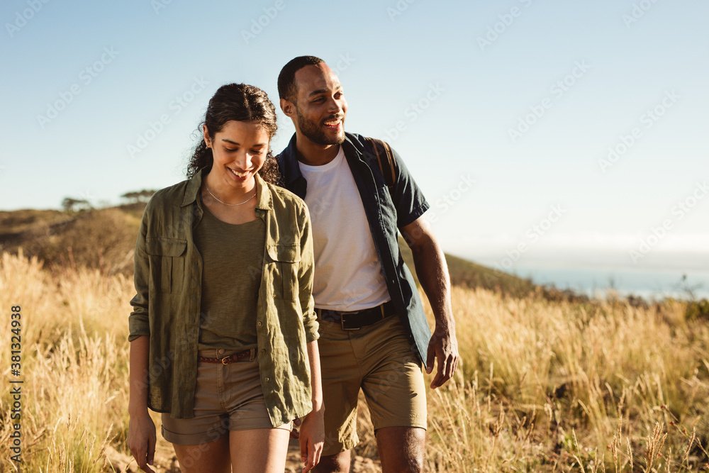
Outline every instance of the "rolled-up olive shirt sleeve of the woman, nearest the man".
[[303, 227], [301, 231], [301, 261], [298, 265], [298, 294], [303, 312], [303, 327], [306, 331], [306, 342], [318, 340], [318, 319], [315, 313], [315, 301], [313, 300], [313, 271], [315, 261], [313, 255], [313, 232], [311, 230], [310, 214], [308, 208], [303, 205], [301, 221]]

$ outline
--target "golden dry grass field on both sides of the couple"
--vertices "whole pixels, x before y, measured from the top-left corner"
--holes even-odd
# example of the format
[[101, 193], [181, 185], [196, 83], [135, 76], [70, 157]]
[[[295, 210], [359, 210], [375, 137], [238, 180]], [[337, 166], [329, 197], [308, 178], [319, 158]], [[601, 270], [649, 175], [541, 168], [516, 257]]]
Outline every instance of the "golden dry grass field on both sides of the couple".
[[[1, 256], [0, 472], [15, 471], [18, 384], [9, 381], [18, 379], [22, 471], [125, 471], [132, 296], [120, 272]], [[452, 301], [462, 366], [428, 393], [428, 471], [707, 468], [709, 327], [688, 320], [684, 303], [552, 302], [462, 287]], [[11, 372], [13, 306], [21, 306], [19, 377]], [[377, 471], [371, 426], [361, 420], [357, 469]], [[157, 471], [177, 472], [171, 460], [161, 443]]]

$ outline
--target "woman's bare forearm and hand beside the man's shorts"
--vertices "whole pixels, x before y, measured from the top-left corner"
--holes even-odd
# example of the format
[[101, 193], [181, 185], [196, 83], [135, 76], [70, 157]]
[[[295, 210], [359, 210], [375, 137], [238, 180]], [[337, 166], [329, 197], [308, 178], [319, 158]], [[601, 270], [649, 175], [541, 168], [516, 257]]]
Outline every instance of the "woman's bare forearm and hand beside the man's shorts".
[[325, 407], [323, 406], [323, 384], [320, 380], [320, 352], [318, 340], [308, 343], [308, 362], [311, 368], [311, 390], [313, 410], [303, 418], [300, 432], [301, 461], [303, 473], [309, 472], [318, 462], [325, 443]]

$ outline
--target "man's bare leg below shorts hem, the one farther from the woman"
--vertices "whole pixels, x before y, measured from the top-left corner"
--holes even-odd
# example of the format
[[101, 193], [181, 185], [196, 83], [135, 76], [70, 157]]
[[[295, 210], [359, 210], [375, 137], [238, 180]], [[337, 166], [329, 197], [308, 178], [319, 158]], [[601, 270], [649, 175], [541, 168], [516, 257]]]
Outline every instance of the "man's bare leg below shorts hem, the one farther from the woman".
[[423, 472], [426, 431], [418, 427], [384, 427], [376, 431], [381, 470], [384, 473]]

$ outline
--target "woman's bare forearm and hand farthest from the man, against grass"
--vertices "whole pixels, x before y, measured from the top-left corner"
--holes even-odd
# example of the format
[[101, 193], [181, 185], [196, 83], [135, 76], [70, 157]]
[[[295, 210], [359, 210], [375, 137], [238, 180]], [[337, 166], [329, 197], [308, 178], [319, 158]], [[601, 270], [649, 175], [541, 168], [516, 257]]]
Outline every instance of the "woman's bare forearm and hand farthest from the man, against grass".
[[130, 342], [130, 398], [128, 400], [128, 448], [144, 472], [155, 473], [148, 464], [155, 459], [155, 423], [147, 412], [147, 364], [150, 335]]

